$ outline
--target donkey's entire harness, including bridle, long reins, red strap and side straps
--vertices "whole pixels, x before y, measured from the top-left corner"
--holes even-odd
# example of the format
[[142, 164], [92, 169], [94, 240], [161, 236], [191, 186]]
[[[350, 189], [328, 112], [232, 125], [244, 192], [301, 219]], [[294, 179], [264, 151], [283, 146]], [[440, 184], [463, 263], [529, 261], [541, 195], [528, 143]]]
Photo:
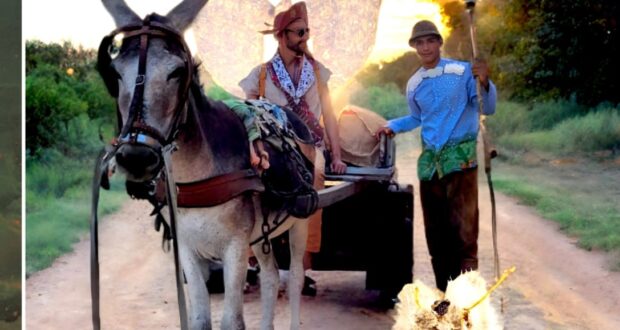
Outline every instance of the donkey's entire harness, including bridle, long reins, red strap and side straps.
[[[132, 198], [147, 199], [154, 206], [154, 210], [151, 215], [156, 215], [155, 228], [159, 229], [163, 226], [164, 243], [172, 241], [174, 262], [175, 262], [175, 277], [177, 285], [177, 298], [179, 302], [179, 317], [182, 329], [187, 329], [187, 308], [185, 302], [184, 288], [183, 288], [183, 273], [179, 265], [178, 259], [178, 235], [176, 233], [176, 214], [177, 207], [209, 207], [222, 204], [240, 194], [248, 191], [264, 191], [263, 183], [260, 178], [252, 169], [244, 169], [227, 173], [224, 175], [200, 180], [190, 183], [175, 183], [174, 175], [172, 171], [172, 153], [177, 150], [177, 146], [174, 142], [182, 127], [185, 125], [188, 114], [188, 94], [190, 90], [191, 80], [194, 74], [194, 63], [192, 60], [191, 52], [187, 47], [187, 44], [183, 40], [181, 34], [170, 28], [169, 26], [153, 20], [155, 14], [147, 16], [140, 25], [124, 26], [114, 30], [108, 36], [104, 37], [98, 51], [97, 69], [101, 74], [109, 93], [118, 97], [118, 85], [116, 83], [117, 74], [110, 70], [110, 65], [115, 54], [120, 53], [123, 47], [121, 43], [125, 40], [139, 39], [139, 55], [138, 55], [138, 72], [136, 81], [134, 84], [133, 98], [130, 103], [129, 113], [127, 121], [123, 125], [122, 115], [117, 103], [117, 118], [118, 118], [118, 131], [119, 135], [114, 139], [111, 145], [108, 145], [102, 150], [97, 157], [95, 165], [95, 175], [93, 178], [92, 187], [92, 208], [91, 208], [91, 221], [90, 221], [90, 234], [91, 234], [91, 299], [92, 299], [92, 323], [94, 329], [101, 328], [100, 320], [100, 287], [99, 287], [99, 250], [98, 250], [98, 203], [100, 188], [109, 188], [109, 182], [107, 178], [107, 169], [111, 160], [123, 145], [140, 145], [152, 149], [157, 157], [159, 157], [159, 173], [151, 181], [145, 183], [126, 182], [126, 187], [129, 195]], [[161, 17], [161, 16], [157, 16]], [[168, 132], [160, 132], [158, 129], [148, 125], [144, 120], [144, 85], [146, 82], [146, 61], [149, 47], [149, 41], [152, 38], [161, 38], [166, 41], [171, 41], [181, 46], [181, 56], [185, 63], [185, 80], [182, 81], [178, 90], [178, 103], [175, 107], [173, 119]], [[266, 126], [270, 127], [270, 126]], [[296, 164], [303, 164], [304, 161], [296, 152], [294, 148], [284, 138], [282, 130], [274, 130], [274, 134], [280, 134], [282, 150], [285, 150], [287, 155], [291, 159], [295, 159]], [[294, 145], [294, 144], [293, 144]], [[301, 171], [301, 167], [298, 167]], [[307, 168], [305, 172], [301, 171], [301, 175], [312, 184], [312, 174], [308, 174]], [[306, 187], [307, 185], [303, 185]], [[307, 188], [307, 187], [306, 187]], [[305, 190], [304, 190], [305, 191]], [[313, 192], [313, 193], [312, 193]], [[272, 195], [283, 197], [284, 194], [280, 194], [277, 190], [272, 191]], [[267, 194], [267, 197], [270, 196]], [[290, 214], [305, 214], [312, 213], [316, 210], [318, 204], [318, 195], [316, 191], [312, 189], [309, 193], [310, 197], [304, 197], [309, 200], [305, 208], [295, 207], [298, 205], [295, 198], [284, 199], [280, 198], [282, 208], [279, 209], [275, 220], [280, 218], [280, 215], [284, 211], [289, 211]], [[290, 196], [285, 196], [290, 197]], [[290, 202], [293, 200], [293, 202]], [[269, 253], [268, 235], [273, 229], [267, 223], [267, 216], [270, 207], [273, 205], [273, 200], [269, 198], [263, 199], [263, 251]], [[164, 217], [161, 214], [161, 210], [164, 206], [168, 206], [170, 225], [166, 223]], [[291, 206], [292, 205], [292, 206]], [[310, 205], [310, 206], [308, 206]], [[288, 216], [288, 215], [287, 215]], [[285, 219], [285, 218], [284, 218]], [[282, 219], [275, 221], [278, 223]], [[282, 222], [279, 222], [281, 224]]]

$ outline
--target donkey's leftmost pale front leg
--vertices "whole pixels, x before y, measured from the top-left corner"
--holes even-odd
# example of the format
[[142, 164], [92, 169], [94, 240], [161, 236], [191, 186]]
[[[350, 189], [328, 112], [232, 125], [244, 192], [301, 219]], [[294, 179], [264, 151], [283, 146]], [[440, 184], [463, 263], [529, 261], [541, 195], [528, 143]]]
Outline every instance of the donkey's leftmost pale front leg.
[[187, 319], [189, 328], [192, 330], [211, 329], [211, 310], [209, 306], [209, 293], [205, 285], [199, 257], [190, 252], [192, 249], [179, 246], [179, 257], [183, 274], [187, 280], [187, 297], [189, 309]]

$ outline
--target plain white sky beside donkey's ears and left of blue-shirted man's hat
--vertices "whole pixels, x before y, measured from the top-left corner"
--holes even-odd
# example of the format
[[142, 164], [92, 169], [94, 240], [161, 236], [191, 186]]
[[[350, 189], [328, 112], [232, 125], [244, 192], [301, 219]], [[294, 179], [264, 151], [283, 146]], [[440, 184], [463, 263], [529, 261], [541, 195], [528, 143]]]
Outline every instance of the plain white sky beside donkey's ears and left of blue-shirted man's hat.
[[[140, 16], [151, 12], [167, 13], [178, 2], [127, 0]], [[24, 36], [27, 40], [69, 40], [75, 45], [96, 48], [101, 38], [114, 29], [114, 21], [99, 0], [26, 0], [23, 6]], [[430, 0], [383, 0], [375, 48], [369, 60], [385, 61], [411, 50], [408, 45], [411, 28], [420, 19], [430, 19], [439, 24], [442, 33], [447, 32], [440, 24], [441, 15], [436, 3]]]

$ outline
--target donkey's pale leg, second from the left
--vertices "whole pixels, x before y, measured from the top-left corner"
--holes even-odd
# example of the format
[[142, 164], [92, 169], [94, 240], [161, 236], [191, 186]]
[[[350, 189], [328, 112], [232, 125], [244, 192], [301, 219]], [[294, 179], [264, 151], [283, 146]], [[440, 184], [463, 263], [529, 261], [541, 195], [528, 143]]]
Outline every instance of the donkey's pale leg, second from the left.
[[223, 330], [245, 329], [243, 322], [243, 285], [247, 269], [247, 251], [247, 240], [233, 240], [224, 253]]

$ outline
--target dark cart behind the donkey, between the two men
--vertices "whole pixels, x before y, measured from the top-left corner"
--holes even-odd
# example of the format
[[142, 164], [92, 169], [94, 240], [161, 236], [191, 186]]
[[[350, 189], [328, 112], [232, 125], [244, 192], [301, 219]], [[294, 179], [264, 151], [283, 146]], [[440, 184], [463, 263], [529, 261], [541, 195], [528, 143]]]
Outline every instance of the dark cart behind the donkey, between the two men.
[[[392, 300], [413, 277], [413, 186], [394, 180], [395, 144], [382, 136], [378, 167], [326, 174], [316, 271], [365, 271], [366, 289]], [[288, 269], [287, 234], [272, 240], [280, 269]]]

